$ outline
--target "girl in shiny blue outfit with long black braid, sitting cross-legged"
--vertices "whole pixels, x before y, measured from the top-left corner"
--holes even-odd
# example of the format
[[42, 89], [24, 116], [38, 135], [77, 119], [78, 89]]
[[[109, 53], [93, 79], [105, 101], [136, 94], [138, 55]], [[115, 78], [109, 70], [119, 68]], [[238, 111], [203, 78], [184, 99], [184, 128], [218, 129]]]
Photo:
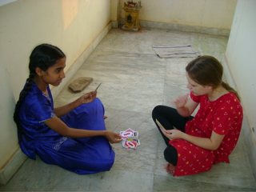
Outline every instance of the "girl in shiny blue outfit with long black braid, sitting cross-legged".
[[110, 170], [114, 164], [111, 143], [122, 138], [104, 123], [104, 106], [90, 92], [54, 108], [49, 85], [65, 78], [66, 55], [56, 46], [36, 46], [30, 55], [30, 75], [19, 96], [14, 122], [22, 151], [32, 159], [61, 166], [77, 174]]

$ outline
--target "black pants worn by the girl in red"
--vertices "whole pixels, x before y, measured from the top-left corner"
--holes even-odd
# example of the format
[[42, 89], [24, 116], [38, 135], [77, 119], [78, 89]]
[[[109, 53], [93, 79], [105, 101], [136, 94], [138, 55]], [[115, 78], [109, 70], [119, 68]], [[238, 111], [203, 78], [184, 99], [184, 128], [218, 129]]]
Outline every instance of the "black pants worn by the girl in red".
[[[190, 121], [193, 119], [193, 116], [184, 118], [180, 114], [178, 114], [178, 111], [170, 106], [156, 106], [154, 107], [154, 110], [152, 111], [152, 118], [154, 120], [154, 123], [158, 127], [158, 130], [162, 134], [162, 131], [160, 130], [158, 124], [155, 122], [156, 119], [158, 119], [158, 122], [162, 124], [166, 128], [166, 130], [173, 130], [174, 127], [176, 127], [178, 130], [181, 130], [182, 132], [185, 132], [185, 125], [187, 121]], [[176, 166], [178, 161], [178, 153], [174, 146], [171, 146], [169, 144], [170, 139], [166, 138], [164, 134], [162, 134], [162, 138], [166, 142], [166, 150], [164, 151], [164, 157], [167, 162], [170, 162], [174, 166]]]

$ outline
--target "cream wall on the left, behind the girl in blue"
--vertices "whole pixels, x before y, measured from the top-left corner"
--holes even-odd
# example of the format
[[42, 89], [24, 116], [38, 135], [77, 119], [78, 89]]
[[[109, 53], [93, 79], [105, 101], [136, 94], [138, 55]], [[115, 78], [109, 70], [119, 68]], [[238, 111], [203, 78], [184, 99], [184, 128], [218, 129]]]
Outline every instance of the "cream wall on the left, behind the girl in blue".
[[[110, 0], [9, 2], [0, 6], [0, 184], [11, 176], [12, 170], [7, 166], [12, 161], [15, 163], [9, 167], [17, 165], [17, 157], [21, 158], [22, 154], [18, 154], [13, 113], [18, 94], [29, 74], [29, 56], [34, 46], [46, 42], [60, 47], [67, 56], [66, 72], [70, 72], [74, 63], [81, 60], [86, 49], [109, 26], [111, 6]], [[68, 80], [66, 78], [62, 84]], [[55, 88], [54, 93], [58, 94]]]

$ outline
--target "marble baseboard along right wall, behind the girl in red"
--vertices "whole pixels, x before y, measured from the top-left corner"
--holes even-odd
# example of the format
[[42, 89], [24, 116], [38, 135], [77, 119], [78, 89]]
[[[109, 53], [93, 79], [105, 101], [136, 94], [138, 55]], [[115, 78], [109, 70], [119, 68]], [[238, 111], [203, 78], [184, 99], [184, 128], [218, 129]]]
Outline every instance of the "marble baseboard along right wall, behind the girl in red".
[[[233, 76], [230, 73], [229, 64], [228, 61], [226, 60], [225, 54], [223, 55], [221, 62], [224, 68], [226, 82], [228, 82], [230, 86], [232, 86], [236, 90], [237, 86], [235, 84]], [[246, 138], [244, 142], [246, 143], [246, 150], [248, 151], [250, 166], [254, 174], [254, 178], [256, 180], [256, 141], [253, 136], [254, 134], [251, 132], [249, 124], [247, 122], [246, 111], [244, 111], [241, 134], [243, 134], [244, 138]]]

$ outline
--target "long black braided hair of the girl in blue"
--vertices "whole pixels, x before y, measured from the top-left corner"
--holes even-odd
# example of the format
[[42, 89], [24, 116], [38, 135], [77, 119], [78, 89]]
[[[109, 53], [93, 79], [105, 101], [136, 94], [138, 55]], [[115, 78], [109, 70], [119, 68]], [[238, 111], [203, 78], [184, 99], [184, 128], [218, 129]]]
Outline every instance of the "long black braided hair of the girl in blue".
[[57, 46], [52, 46], [50, 44], [41, 44], [36, 46], [30, 54], [30, 75], [29, 78], [26, 79], [26, 85], [19, 95], [18, 102], [14, 110], [14, 122], [18, 128], [18, 142], [21, 142], [22, 134], [25, 134], [19, 121], [18, 113], [26, 94], [30, 91], [32, 83], [34, 82], [34, 77], [37, 75], [35, 69], [39, 67], [41, 70], [46, 71], [50, 66], [54, 66], [54, 64], [58, 62], [58, 59], [65, 57], [66, 55], [62, 52], [62, 50], [60, 50]]

